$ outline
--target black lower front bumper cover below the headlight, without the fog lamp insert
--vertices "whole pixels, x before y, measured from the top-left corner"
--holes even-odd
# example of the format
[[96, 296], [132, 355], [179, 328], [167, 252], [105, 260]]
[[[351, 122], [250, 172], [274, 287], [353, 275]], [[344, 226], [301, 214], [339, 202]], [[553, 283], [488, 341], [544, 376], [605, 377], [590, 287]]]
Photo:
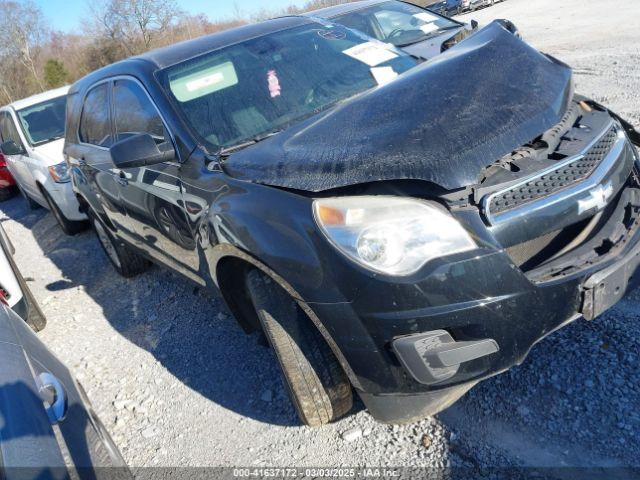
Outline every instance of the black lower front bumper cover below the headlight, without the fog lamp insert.
[[[325, 325], [370, 413], [387, 423], [410, 422], [438, 413], [478, 381], [522, 363], [550, 333], [612, 306], [635, 286], [629, 277], [639, 255], [636, 234], [629, 251], [602, 269], [536, 285], [506, 254], [488, 254], [443, 265], [416, 283], [375, 281], [360, 300], [313, 309], [320, 318], [339, 319], [338, 326]], [[499, 351], [459, 365], [442, 382], [420, 383], [394, 353], [393, 340], [439, 329], [461, 342], [492, 339]]]

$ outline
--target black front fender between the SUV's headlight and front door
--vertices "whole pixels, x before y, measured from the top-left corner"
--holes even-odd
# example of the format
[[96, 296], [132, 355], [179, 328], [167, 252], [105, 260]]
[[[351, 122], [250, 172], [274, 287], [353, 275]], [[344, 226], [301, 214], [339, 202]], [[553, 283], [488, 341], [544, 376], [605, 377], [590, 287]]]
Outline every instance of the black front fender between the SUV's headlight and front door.
[[198, 225], [197, 236], [208, 244], [202, 246], [216, 284], [218, 262], [239, 255], [286, 279], [299, 300], [338, 303], [355, 297], [357, 289], [337, 287], [340, 269], [348, 266], [317, 229], [308, 197], [231, 181], [202, 221], [206, 225]]

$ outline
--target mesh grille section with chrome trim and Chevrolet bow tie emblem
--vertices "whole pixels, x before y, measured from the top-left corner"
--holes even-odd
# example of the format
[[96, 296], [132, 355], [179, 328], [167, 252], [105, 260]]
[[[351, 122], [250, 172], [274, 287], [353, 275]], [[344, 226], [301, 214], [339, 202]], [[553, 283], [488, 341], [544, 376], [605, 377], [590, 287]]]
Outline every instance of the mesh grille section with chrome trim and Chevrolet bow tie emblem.
[[576, 97], [557, 125], [467, 190], [530, 282], [584, 278], [578, 313], [587, 319], [622, 298], [640, 263], [639, 139], [615, 114]]

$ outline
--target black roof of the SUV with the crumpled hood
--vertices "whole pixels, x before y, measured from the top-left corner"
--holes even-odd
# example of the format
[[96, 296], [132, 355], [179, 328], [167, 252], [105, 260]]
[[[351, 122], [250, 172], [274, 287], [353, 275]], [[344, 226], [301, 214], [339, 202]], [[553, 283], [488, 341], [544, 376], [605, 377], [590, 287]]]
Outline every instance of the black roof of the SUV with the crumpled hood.
[[[288, 16], [267, 20], [265, 22], [243, 25], [222, 32], [205, 35], [193, 40], [179, 42], [168, 47], [151, 50], [136, 57], [130, 57], [96, 70], [78, 80], [70, 93], [88, 87], [102, 78], [116, 75], [147, 76], [154, 71], [165, 68], [207, 52], [244, 42], [252, 38], [312, 23], [313, 19], [303, 16]], [[137, 74], [137, 75], [136, 75]]]

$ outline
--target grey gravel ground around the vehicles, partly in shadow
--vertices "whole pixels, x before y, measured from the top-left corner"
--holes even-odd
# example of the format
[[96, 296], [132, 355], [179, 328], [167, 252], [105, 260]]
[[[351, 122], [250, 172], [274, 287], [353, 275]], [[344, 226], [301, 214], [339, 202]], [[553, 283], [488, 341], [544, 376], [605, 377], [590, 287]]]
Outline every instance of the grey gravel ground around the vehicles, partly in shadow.
[[[513, 20], [576, 67], [579, 92], [640, 124], [639, 2], [508, 0], [469, 17]], [[640, 466], [638, 292], [435, 418], [381, 425], [356, 405], [310, 429], [271, 352], [218, 300], [157, 267], [118, 277], [93, 234], [65, 237], [20, 198], [0, 205], [0, 221], [48, 316], [40, 337], [131, 466]]]

